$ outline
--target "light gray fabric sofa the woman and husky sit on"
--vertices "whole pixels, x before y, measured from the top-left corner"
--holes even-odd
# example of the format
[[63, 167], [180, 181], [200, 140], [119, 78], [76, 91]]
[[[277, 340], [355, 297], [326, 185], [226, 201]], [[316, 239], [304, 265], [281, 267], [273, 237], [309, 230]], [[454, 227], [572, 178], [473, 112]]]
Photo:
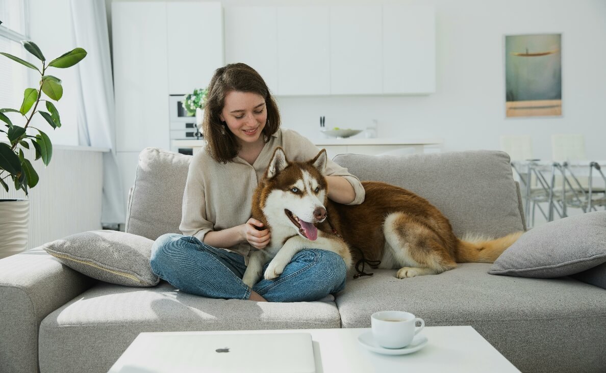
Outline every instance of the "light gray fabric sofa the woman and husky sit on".
[[[190, 159], [142, 151], [128, 233], [155, 239], [179, 232]], [[335, 161], [362, 180], [426, 197], [458, 235], [525, 228], [505, 153], [342, 154]], [[0, 371], [105, 372], [139, 332], [361, 328], [384, 309], [413, 312], [427, 326], [471, 325], [524, 372], [606, 370], [606, 290], [570, 277], [493, 276], [490, 266], [464, 263], [404, 280], [395, 270], [375, 270], [348, 279], [335, 302], [256, 303], [205, 299], [165, 282], [148, 288], [99, 282], [36, 248], [0, 260]]]

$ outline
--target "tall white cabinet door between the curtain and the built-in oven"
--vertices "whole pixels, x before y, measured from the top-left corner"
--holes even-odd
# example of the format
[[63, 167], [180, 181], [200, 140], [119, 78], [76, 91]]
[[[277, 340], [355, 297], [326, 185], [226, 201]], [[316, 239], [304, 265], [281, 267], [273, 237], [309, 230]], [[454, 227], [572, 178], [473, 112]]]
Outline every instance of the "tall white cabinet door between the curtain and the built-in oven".
[[168, 148], [167, 6], [112, 2], [116, 150]]

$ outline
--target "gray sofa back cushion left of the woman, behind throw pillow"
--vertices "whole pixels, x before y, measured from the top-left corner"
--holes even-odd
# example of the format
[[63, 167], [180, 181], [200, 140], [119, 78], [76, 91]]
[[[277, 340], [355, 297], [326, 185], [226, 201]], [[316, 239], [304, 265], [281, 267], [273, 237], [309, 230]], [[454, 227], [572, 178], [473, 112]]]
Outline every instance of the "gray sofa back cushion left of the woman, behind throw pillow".
[[181, 206], [191, 158], [158, 148], [141, 151], [128, 199], [127, 233], [151, 240], [165, 233], [181, 234]]

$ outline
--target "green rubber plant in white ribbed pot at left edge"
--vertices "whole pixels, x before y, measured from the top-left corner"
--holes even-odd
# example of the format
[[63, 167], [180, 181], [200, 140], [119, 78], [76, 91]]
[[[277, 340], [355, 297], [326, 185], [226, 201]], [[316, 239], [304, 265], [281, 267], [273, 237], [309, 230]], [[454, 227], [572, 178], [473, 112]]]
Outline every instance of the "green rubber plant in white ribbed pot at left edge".
[[[82, 48], [75, 48], [47, 62], [34, 42], [22, 41], [22, 44], [25, 50], [41, 61], [41, 67], [12, 54], [0, 54], [38, 71], [40, 81], [37, 88], [25, 88], [20, 108], [0, 109], [0, 120], [4, 122], [0, 131], [8, 138], [8, 142], [0, 142], [0, 185], [7, 192], [9, 185], [14, 186], [15, 190], [22, 190], [27, 196], [28, 189], [36, 186], [39, 178], [32, 162], [25, 157], [23, 148], [29, 149], [32, 145], [36, 151], [35, 159], [42, 159], [44, 165], [48, 165], [53, 156], [53, 145], [48, 135], [39, 128], [30, 126], [32, 117], [38, 113], [53, 130], [61, 127], [59, 111], [52, 101], [61, 99], [63, 87], [61, 79], [49, 74], [48, 69], [72, 67], [82, 61], [87, 52]], [[46, 110], [39, 106], [42, 102]], [[27, 199], [0, 200], [0, 259], [27, 248], [28, 216]]]

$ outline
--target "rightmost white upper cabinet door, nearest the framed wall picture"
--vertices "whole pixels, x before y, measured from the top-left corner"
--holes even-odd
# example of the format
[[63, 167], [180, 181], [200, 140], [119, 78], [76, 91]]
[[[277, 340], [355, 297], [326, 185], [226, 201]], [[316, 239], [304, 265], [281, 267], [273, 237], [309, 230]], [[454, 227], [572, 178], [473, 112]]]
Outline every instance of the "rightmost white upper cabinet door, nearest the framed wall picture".
[[383, 5], [383, 93], [436, 90], [436, 22], [431, 5]]

